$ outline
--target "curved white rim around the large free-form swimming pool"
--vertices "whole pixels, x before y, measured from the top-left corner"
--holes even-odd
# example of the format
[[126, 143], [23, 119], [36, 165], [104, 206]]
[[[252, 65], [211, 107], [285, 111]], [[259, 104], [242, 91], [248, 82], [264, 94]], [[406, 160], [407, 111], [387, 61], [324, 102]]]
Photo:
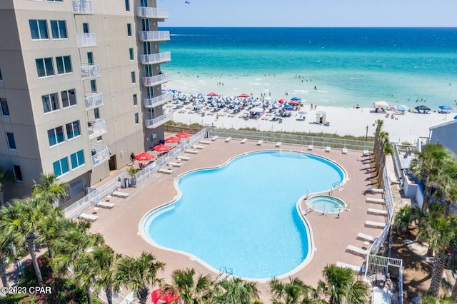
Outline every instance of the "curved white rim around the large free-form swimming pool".
[[[195, 171], [214, 170], [216, 168], [224, 167], [224, 166], [228, 165], [234, 159], [239, 158], [241, 156], [245, 156], [247, 154], [258, 153], [258, 152], [268, 152], [268, 151], [277, 152], [277, 150], [271, 150], [271, 149], [261, 149], [261, 150], [256, 150], [256, 151], [248, 151], [248, 152], [244, 152], [244, 153], [238, 154], [236, 156], [233, 156], [232, 158], [229, 158], [229, 160], [227, 160], [226, 162], [222, 163], [219, 166], [196, 168], [196, 169], [192, 169], [192, 170], [189, 170], [189, 171], [186, 171], [186, 172], [180, 174], [178, 176], [178, 178], [174, 180], [174, 183], [173, 183], [174, 184], [174, 188], [175, 188], [175, 190], [177, 192], [176, 196], [174, 196], [174, 198], [171, 199], [171, 201], [168, 201], [168, 202], [166, 202], [166, 203], [164, 203], [164, 204], [162, 204], [160, 206], [157, 206], [156, 208], [152, 208], [150, 211], [146, 212], [143, 217], [141, 217], [141, 220], [139, 222], [139, 235], [141, 235], [141, 238], [143, 238], [146, 241], [146, 243], [149, 243], [149, 245], [152, 245], [153, 247], [159, 248], [161, 250], [168, 250], [168, 251], [173, 252], [173, 253], [179, 253], [179, 254], [182, 254], [184, 256], [187, 256], [189, 258], [189, 260], [197, 261], [201, 265], [203, 265], [204, 267], [206, 267], [209, 270], [211, 270], [212, 272], [214, 272], [216, 275], [219, 274], [219, 270], [218, 269], [216, 269], [213, 266], [209, 265], [209, 263], [206, 263], [201, 258], [198, 258], [195, 255], [192, 255], [191, 253], [188, 253], [186, 251], [176, 250], [176, 249], [169, 248], [169, 247], [165, 247], [165, 246], [159, 245], [156, 242], [154, 242], [154, 240], [152, 240], [151, 238], [149, 238], [147, 236], [146, 231], [144, 229], [145, 228], [145, 224], [146, 224], [146, 219], [149, 218], [151, 213], [159, 211], [160, 209], [163, 209], [163, 208], [167, 208], [167, 207], [173, 205], [174, 203], [176, 203], [176, 201], [179, 201], [179, 199], [182, 196], [181, 189], [178, 186], [179, 179], [181, 177], [186, 176], [187, 174], [193, 173]], [[288, 150], [282, 150], [282, 151], [291, 151], [291, 152], [303, 153], [301, 151], [295, 151], [295, 150], [289, 150], [289, 149]], [[346, 181], [348, 180], [348, 174], [347, 174], [346, 170], [343, 168], [343, 166], [341, 166], [336, 161], [333, 161], [333, 160], [331, 160], [329, 158], [326, 158], [326, 157], [323, 157], [323, 156], [318, 156], [318, 155], [313, 154], [313, 153], [304, 153], [304, 154], [316, 156], [318, 158], [323, 158], [326, 161], [334, 163], [336, 166], [338, 166], [338, 168], [340, 168], [341, 171], [343, 172], [343, 181], [341, 181], [341, 186], [344, 183], [346, 183]], [[319, 193], [326, 193], [329, 190], [330, 189], [328, 189], [326, 191], [320, 191], [320, 192], [316, 192], [316, 193], [311, 193], [311, 195], [318, 195]], [[308, 254], [306, 255], [304, 260], [296, 268], [293, 268], [293, 270], [288, 271], [288, 273], [284, 273], [283, 275], [278, 275], [278, 276], [272, 277], [272, 278], [278, 278], [278, 279], [287, 278], [288, 276], [294, 275], [294, 274], [298, 273], [298, 271], [303, 270], [303, 268], [305, 268], [306, 265], [308, 265], [308, 263], [311, 262], [311, 260], [312, 260], [312, 258], [314, 256], [314, 252], [317, 250], [317, 248], [314, 246], [315, 243], [314, 243], [314, 237], [313, 237], [313, 229], [311, 228], [311, 224], [308, 223], [308, 220], [304, 216], [303, 210], [301, 208], [301, 202], [305, 198], [307, 198], [308, 196], [310, 196], [310, 193], [303, 194], [303, 196], [298, 198], [298, 201], [296, 203], [296, 211], [298, 212], [298, 216], [300, 216], [303, 225], [306, 228], [308, 228], [308, 229], [306, 229], [306, 235], [308, 236], [308, 238], [307, 238], [308, 239]], [[166, 212], [166, 211], [164, 211], [164, 212]], [[236, 277], [236, 278], [241, 278], [243, 280], [248, 280], [248, 281], [253, 281], [253, 282], [258, 282], [258, 283], [267, 283], [269, 280], [272, 279], [272, 278], [246, 278], [246, 277], [241, 277], [241, 276], [237, 276], [237, 275], [233, 275], [233, 276]]]

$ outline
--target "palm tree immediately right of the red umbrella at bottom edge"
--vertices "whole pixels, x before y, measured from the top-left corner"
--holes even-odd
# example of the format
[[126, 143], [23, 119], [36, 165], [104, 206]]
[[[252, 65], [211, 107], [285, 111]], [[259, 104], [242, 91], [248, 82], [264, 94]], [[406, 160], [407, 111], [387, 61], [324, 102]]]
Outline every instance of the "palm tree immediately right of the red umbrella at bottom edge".
[[[209, 293], [212, 287], [209, 275], [199, 275], [195, 278], [194, 268], [185, 270], [174, 270], [171, 274], [172, 284], [177, 288], [179, 298], [184, 303], [200, 303], [202, 298]], [[172, 288], [174, 290], [174, 288]]]

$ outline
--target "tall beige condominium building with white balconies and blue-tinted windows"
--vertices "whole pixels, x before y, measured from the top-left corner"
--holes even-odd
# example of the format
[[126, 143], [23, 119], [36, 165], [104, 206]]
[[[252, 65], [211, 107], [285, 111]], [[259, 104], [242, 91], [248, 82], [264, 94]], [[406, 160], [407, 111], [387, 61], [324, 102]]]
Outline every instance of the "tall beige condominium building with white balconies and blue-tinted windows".
[[71, 201], [164, 139], [168, 18], [156, 0], [0, 1], [0, 164], [30, 193], [41, 172]]

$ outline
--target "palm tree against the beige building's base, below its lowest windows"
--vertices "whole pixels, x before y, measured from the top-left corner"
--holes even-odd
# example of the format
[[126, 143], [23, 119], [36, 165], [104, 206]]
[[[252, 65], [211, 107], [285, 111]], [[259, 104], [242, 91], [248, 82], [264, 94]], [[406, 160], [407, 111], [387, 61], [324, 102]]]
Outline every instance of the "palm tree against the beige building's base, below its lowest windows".
[[54, 173], [41, 173], [40, 183], [34, 181], [31, 194], [32, 196], [42, 196], [45, 201], [59, 206], [59, 201], [68, 196], [68, 186], [66, 183], [59, 182], [59, 178]]

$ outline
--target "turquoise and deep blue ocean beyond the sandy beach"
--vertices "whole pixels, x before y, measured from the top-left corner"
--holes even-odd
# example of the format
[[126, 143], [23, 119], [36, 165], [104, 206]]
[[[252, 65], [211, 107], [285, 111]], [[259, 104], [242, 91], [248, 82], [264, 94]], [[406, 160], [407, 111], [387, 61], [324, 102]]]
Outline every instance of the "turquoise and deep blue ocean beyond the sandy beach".
[[[456, 106], [457, 28], [161, 28], [166, 88], [328, 106]], [[206, 91], [205, 91], [206, 90]]]

